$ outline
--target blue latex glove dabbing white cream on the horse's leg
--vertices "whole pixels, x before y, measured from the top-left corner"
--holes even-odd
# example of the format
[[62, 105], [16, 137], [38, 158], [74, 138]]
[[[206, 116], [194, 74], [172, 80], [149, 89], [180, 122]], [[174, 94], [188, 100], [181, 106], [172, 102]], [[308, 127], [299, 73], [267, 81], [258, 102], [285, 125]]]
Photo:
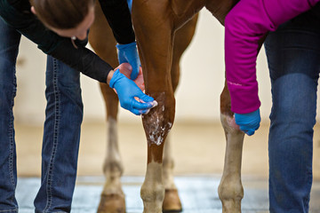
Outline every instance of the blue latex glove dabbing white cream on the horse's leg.
[[[154, 106], [153, 101], [155, 99], [143, 93], [137, 84], [120, 73], [119, 69], [112, 76], [109, 86], [116, 89], [120, 106], [131, 111], [133, 114], [147, 114], [149, 109]], [[139, 98], [145, 103], [140, 103], [134, 97]]]

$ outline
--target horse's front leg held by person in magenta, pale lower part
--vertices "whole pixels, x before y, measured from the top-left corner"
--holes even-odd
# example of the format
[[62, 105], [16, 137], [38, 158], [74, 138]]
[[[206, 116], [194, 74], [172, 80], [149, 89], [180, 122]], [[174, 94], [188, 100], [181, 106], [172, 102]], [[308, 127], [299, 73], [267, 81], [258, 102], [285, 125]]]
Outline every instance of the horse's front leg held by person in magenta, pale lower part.
[[220, 119], [226, 134], [227, 146], [223, 174], [219, 185], [219, 197], [223, 213], [241, 212], [241, 200], [244, 188], [241, 183], [241, 161], [244, 144], [244, 132], [236, 126], [235, 118], [230, 110], [228, 86], [220, 95]]

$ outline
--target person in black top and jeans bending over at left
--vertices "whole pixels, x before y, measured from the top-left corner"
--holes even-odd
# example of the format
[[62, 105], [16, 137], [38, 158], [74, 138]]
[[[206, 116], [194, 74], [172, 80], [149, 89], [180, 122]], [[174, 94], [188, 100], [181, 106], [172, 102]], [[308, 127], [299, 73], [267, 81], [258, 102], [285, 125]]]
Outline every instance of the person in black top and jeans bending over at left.
[[[28, 0], [0, 0], [0, 211], [18, 212], [12, 106], [17, 89], [15, 63], [23, 35], [48, 55], [42, 178], [34, 202], [36, 212], [69, 212], [83, 119], [80, 72], [109, 83], [116, 89], [121, 106], [133, 114], [147, 113], [155, 101], [119, 69], [115, 71], [85, 48], [94, 19], [94, 0], [34, 0], [31, 4]], [[125, 0], [100, 0], [100, 5], [116, 37], [119, 61], [132, 65], [134, 79], [140, 60], [128, 5]]]

